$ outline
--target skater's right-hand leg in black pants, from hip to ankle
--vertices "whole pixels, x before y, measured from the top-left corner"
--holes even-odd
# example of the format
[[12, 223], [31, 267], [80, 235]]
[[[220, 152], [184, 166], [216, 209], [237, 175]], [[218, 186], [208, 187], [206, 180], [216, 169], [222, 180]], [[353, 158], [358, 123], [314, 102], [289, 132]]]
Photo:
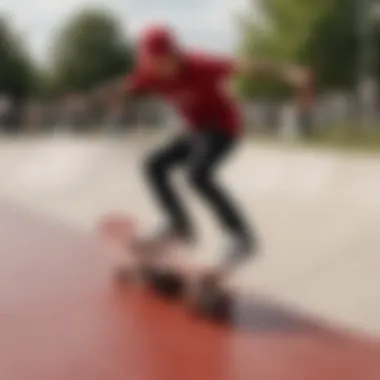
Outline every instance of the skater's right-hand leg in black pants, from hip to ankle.
[[253, 251], [252, 231], [238, 206], [215, 180], [215, 173], [223, 159], [233, 151], [237, 141], [218, 132], [200, 134], [193, 142], [189, 159], [191, 186], [207, 201], [222, 226], [236, 242], [231, 255], [245, 256]]

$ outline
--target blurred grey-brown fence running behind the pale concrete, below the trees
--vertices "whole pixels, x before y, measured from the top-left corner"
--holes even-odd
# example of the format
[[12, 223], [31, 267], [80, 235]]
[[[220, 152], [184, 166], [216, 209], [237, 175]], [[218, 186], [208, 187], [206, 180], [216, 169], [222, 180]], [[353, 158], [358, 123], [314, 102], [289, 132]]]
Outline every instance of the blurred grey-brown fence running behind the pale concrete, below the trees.
[[[309, 134], [313, 128], [353, 123], [359, 115], [356, 97], [347, 94], [321, 96], [307, 110], [283, 99], [245, 102], [241, 107], [247, 128], [261, 134]], [[368, 118], [378, 124], [379, 109], [374, 107]], [[180, 122], [172, 109], [153, 99], [133, 101], [122, 111], [111, 112], [81, 101], [12, 104], [0, 98], [0, 125], [4, 131], [125, 131], [140, 125], [158, 128]]]

